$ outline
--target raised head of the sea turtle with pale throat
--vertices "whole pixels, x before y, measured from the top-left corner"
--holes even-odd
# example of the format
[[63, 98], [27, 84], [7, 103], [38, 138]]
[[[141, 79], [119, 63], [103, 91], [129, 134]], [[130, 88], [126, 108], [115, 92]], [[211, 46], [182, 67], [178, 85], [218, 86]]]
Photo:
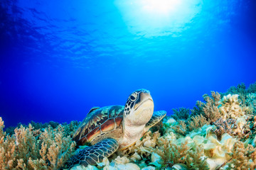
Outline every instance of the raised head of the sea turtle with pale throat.
[[124, 106], [124, 122], [131, 126], [141, 126], [149, 122], [153, 115], [154, 102], [150, 92], [139, 89], [130, 94]]

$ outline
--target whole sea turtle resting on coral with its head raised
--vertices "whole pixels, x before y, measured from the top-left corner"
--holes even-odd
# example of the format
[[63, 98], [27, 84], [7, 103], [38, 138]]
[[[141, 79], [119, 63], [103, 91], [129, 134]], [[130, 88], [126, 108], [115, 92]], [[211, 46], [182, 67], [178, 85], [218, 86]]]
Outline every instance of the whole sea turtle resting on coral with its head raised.
[[117, 149], [125, 149], [139, 140], [164, 118], [166, 111], [155, 111], [149, 91], [134, 91], [125, 106], [94, 107], [73, 135], [78, 145], [90, 144], [71, 157], [65, 168], [102, 162]]

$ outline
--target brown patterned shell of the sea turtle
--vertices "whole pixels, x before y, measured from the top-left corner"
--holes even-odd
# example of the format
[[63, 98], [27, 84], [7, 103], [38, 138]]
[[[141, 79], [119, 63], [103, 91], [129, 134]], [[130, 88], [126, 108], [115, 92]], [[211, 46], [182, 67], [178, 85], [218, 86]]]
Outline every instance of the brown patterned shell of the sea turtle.
[[91, 142], [98, 135], [119, 128], [122, 124], [124, 106], [106, 106], [87, 114], [73, 135], [78, 145]]

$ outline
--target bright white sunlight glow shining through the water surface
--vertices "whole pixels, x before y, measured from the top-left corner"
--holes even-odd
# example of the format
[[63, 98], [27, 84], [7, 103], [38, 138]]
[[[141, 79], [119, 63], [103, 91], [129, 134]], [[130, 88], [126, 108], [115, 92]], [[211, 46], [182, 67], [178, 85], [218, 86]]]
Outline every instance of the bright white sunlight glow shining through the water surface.
[[116, 0], [124, 22], [133, 34], [147, 38], [180, 36], [201, 12], [202, 0]]

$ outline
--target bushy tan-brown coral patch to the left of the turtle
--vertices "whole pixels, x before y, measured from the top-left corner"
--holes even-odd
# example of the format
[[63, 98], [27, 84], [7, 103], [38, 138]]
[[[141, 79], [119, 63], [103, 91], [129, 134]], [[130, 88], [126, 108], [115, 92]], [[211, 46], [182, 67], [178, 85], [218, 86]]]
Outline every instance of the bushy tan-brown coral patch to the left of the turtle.
[[70, 126], [34, 130], [21, 125], [10, 136], [0, 117], [0, 169], [60, 169], [75, 149]]

